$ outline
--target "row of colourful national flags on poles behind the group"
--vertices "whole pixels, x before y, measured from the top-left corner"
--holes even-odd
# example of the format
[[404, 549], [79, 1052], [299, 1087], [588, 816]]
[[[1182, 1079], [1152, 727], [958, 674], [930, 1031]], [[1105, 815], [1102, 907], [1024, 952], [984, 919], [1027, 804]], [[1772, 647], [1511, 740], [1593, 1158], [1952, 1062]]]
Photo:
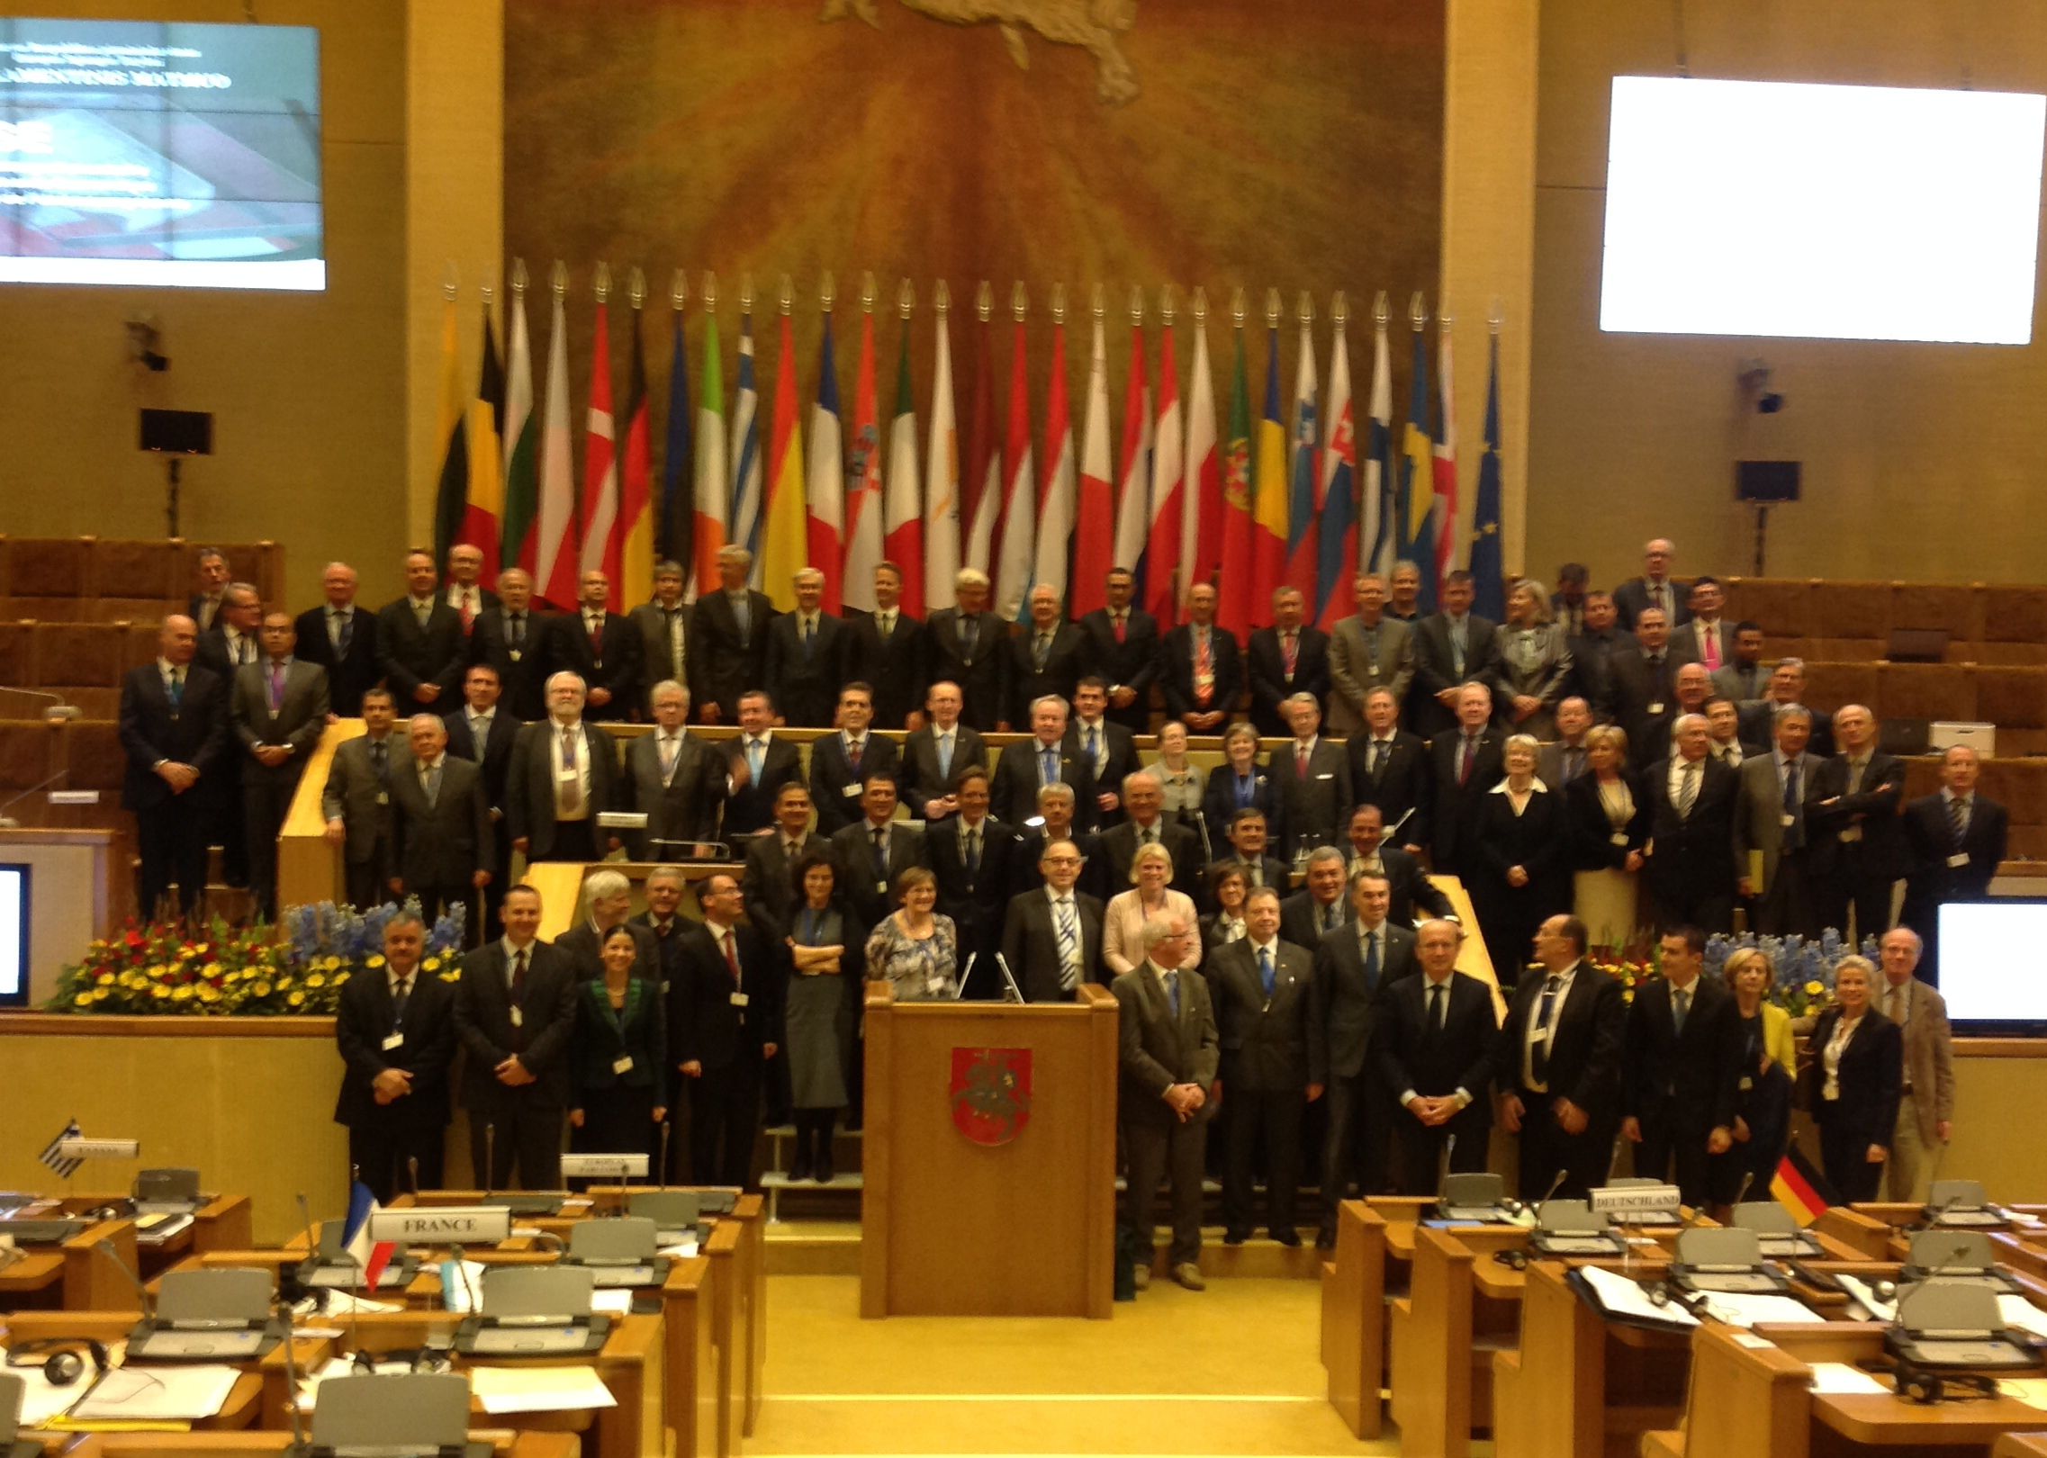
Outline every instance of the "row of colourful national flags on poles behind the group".
[[950, 301], [940, 285], [929, 412], [919, 426], [909, 281], [899, 307], [890, 414], [882, 418], [872, 289], [858, 315], [847, 414], [829, 285], [809, 410], [798, 399], [802, 360], [784, 285], [774, 397], [764, 412], [751, 291], [743, 297], [737, 379], [727, 395], [716, 291], [706, 276], [694, 399], [690, 317], [680, 287], [676, 293], [657, 469], [641, 321], [645, 287], [635, 270], [620, 428], [612, 410], [610, 276], [600, 266], [577, 479], [565, 293], [565, 270], [557, 264], [545, 389], [536, 397], [524, 268], [514, 270], [502, 362], [485, 299], [475, 393], [461, 381], [459, 305], [448, 291], [440, 416], [446, 444], [434, 514], [438, 555], [459, 543], [475, 545], [483, 551], [487, 577], [502, 567], [524, 567], [536, 596], [555, 608], [577, 602], [577, 577], [592, 569], [608, 573], [614, 610], [645, 602], [653, 596], [653, 565], [663, 559], [684, 565], [688, 596], [712, 592], [718, 551], [737, 543], [753, 553], [751, 586], [784, 610], [794, 606], [792, 580], [802, 567], [823, 573], [827, 610], [872, 608], [874, 567], [892, 561], [903, 569], [903, 606], [913, 614], [954, 606], [954, 573], [978, 567], [989, 573], [993, 606], [1005, 616], [1021, 614], [1036, 584], [1050, 584], [1069, 614], [1081, 616], [1105, 604], [1107, 573], [1124, 565], [1136, 573], [1140, 606], [1161, 623], [1177, 623], [1187, 590], [1206, 582], [1218, 588], [1218, 620], [1243, 635], [1271, 620], [1271, 598], [1281, 586], [1304, 594], [1308, 620], [1331, 627], [1353, 610], [1353, 575], [1390, 573], [1396, 561], [1423, 567], [1421, 604], [1433, 610], [1437, 584], [1462, 557], [1478, 580], [1478, 610], [1502, 616], [1498, 332], [1490, 340], [1474, 526], [1460, 543], [1451, 332], [1437, 321], [1437, 389], [1431, 389], [1419, 295], [1410, 311], [1408, 414], [1396, 446], [1384, 297], [1376, 309], [1371, 387], [1359, 440], [1341, 295], [1329, 336], [1326, 389], [1316, 371], [1312, 305], [1306, 295], [1300, 301], [1296, 377], [1286, 408], [1279, 301], [1277, 291], [1269, 295], [1255, 420], [1240, 301], [1232, 309], [1228, 416], [1218, 418], [1200, 293], [1185, 385], [1171, 295], [1152, 332], [1144, 328], [1144, 299], [1132, 295], [1122, 432], [1112, 438], [1099, 291], [1077, 436], [1062, 309], [1054, 309], [1042, 430], [1032, 428], [1021, 285], [1009, 336], [1007, 418], [995, 412], [1001, 340], [987, 285], [978, 319], [966, 326], [964, 401], [954, 395]]

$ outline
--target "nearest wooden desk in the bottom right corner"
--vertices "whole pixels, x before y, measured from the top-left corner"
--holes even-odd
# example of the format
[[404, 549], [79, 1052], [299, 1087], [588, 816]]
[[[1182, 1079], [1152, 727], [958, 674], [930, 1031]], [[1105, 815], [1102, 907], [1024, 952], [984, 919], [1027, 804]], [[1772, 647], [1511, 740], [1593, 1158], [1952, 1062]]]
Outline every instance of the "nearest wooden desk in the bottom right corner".
[[[1814, 1362], [1865, 1362], [1883, 1354], [1883, 1325], [1699, 1327], [1685, 1431], [1650, 1433], [1644, 1454], [1685, 1458], [1791, 1458], [1891, 1452], [1988, 1454], [2012, 1429], [2047, 1431], [2047, 1411], [2008, 1397], [1920, 1407], [1885, 1395], [1818, 1395]], [[1883, 1382], [1885, 1378], [1877, 1378]], [[2002, 1444], [2000, 1454], [2008, 1452]], [[2047, 1452], [2047, 1446], [2010, 1452]]]

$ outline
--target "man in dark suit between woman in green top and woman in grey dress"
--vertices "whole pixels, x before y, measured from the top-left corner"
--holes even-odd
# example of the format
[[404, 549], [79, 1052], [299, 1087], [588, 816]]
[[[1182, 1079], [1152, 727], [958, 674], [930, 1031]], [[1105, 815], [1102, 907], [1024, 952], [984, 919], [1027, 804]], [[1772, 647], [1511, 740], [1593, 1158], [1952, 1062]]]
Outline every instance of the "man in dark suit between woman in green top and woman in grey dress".
[[704, 924], [684, 932], [684, 987], [667, 1003], [669, 1055], [690, 1089], [690, 1180], [749, 1188], [761, 1087], [782, 1050], [782, 958], [739, 924], [731, 872], [698, 881], [696, 901]]

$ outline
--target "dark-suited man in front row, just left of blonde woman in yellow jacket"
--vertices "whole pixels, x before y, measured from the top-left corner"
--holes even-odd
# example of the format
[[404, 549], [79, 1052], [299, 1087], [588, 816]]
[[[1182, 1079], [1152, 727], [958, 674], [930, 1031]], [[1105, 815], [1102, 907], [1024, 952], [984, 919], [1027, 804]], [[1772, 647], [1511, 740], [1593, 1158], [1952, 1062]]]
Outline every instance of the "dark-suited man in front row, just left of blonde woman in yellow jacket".
[[1705, 971], [1705, 932], [1662, 934], [1662, 977], [1636, 989], [1621, 1053], [1621, 1139], [1636, 1173], [1668, 1180], [1695, 1210], [1707, 1202], [1707, 1157], [1734, 1147], [1742, 1030], [1734, 993]]

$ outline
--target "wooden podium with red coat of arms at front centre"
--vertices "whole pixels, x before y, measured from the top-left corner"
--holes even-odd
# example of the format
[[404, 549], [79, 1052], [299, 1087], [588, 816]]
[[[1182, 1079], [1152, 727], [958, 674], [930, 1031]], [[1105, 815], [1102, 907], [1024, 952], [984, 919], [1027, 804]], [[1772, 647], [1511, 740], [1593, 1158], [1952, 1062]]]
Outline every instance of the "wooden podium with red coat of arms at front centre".
[[1114, 1300], [1116, 999], [897, 1003], [868, 985], [862, 1317]]

